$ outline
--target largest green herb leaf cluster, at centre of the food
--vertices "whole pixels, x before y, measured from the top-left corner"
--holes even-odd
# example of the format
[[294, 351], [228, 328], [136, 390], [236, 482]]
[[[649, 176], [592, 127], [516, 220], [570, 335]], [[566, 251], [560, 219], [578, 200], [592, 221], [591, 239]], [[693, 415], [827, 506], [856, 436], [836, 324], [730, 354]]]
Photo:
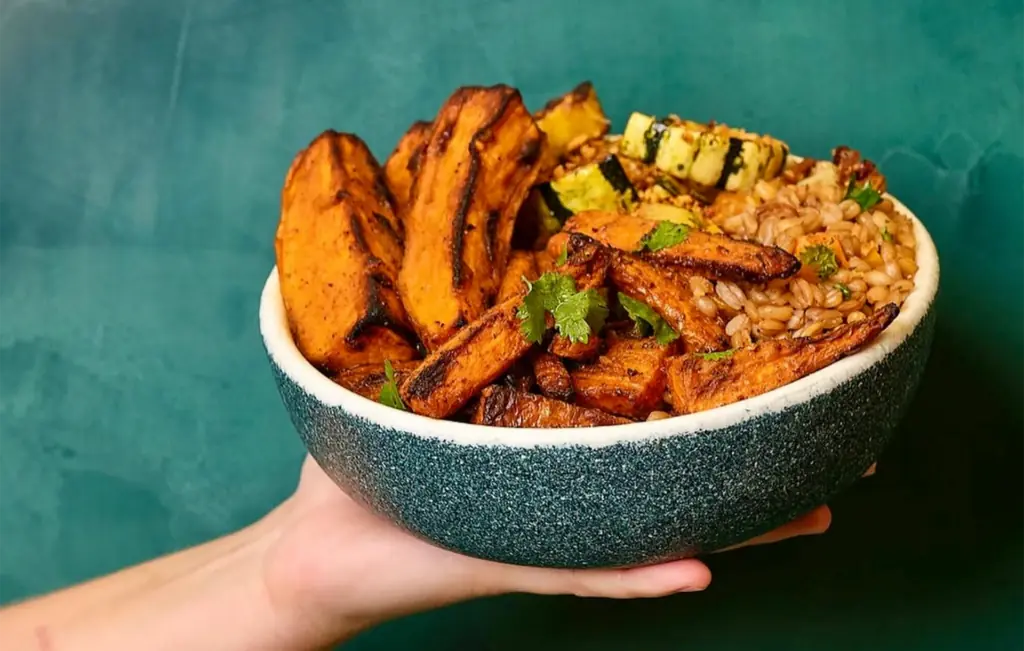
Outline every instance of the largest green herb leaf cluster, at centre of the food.
[[608, 304], [595, 290], [578, 292], [570, 275], [548, 271], [534, 283], [526, 283], [526, 296], [516, 310], [522, 320], [522, 334], [538, 343], [547, 330], [545, 313], [551, 312], [555, 328], [572, 343], [587, 343], [590, 334], [604, 327]]

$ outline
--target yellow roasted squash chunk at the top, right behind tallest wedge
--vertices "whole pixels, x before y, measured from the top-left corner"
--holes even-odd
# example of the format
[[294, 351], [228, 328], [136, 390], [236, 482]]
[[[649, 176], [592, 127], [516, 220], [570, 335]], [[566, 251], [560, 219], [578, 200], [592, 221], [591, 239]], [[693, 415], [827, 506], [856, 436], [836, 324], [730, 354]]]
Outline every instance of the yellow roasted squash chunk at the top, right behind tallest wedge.
[[566, 154], [588, 140], [603, 136], [611, 125], [590, 82], [583, 82], [561, 97], [552, 99], [534, 117], [537, 126], [547, 136], [543, 164], [545, 177]]

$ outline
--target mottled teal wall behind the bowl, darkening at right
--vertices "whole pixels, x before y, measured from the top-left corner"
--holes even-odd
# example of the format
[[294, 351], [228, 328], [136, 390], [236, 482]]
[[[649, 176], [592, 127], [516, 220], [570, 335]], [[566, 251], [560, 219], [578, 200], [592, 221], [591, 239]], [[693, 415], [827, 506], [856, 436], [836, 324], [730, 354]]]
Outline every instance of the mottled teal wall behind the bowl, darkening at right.
[[1024, 11], [1013, 0], [0, 3], [0, 602], [228, 531], [302, 450], [258, 294], [293, 154], [386, 156], [458, 85], [881, 163], [943, 264], [880, 475], [817, 539], [711, 559], [705, 595], [508, 597], [387, 624], [404, 649], [978, 649], [1024, 640]]

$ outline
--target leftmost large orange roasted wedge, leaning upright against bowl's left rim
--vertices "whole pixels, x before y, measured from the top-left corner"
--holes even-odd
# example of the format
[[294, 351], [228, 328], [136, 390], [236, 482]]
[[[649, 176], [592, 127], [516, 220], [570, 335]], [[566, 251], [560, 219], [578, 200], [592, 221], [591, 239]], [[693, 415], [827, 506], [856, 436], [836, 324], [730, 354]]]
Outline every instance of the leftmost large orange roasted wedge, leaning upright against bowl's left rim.
[[295, 343], [334, 372], [416, 356], [395, 292], [401, 237], [380, 166], [358, 137], [326, 131], [285, 180], [274, 241]]

